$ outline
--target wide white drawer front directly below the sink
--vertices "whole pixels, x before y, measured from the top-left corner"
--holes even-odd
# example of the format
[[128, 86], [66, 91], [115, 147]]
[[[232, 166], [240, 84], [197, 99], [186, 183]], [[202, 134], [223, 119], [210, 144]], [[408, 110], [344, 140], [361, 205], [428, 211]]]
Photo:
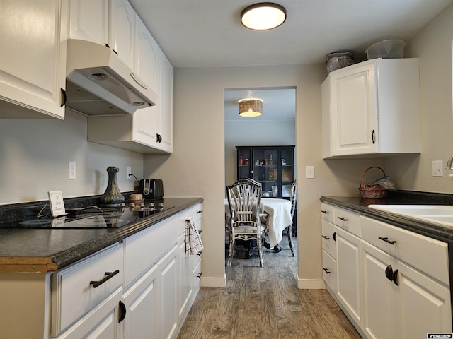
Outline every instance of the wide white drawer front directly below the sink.
[[363, 240], [449, 285], [448, 247], [445, 242], [365, 216], [360, 219]]

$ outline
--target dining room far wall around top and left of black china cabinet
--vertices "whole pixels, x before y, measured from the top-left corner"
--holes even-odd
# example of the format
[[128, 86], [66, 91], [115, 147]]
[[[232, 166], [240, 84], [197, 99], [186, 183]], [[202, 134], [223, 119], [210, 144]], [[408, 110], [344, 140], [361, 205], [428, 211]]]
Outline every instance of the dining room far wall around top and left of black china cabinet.
[[236, 146], [295, 144], [295, 121], [225, 121], [225, 184], [236, 181]]

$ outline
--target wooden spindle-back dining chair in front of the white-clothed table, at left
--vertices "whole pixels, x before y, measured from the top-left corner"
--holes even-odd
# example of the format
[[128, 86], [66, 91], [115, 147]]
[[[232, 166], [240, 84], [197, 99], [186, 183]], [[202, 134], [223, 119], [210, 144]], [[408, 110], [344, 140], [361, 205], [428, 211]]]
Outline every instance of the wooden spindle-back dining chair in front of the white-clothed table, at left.
[[260, 266], [264, 267], [262, 239], [265, 227], [260, 222], [261, 185], [249, 179], [241, 179], [226, 186], [229, 205], [227, 231], [229, 232], [228, 266], [234, 256], [236, 239], [250, 241], [256, 239]]

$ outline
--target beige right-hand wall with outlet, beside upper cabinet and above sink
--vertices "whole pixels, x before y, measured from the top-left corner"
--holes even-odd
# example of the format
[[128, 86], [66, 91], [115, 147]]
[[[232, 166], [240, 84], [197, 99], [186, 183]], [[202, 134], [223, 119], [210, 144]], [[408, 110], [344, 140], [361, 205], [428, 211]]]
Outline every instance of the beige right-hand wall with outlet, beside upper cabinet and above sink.
[[453, 4], [409, 42], [405, 55], [420, 59], [422, 153], [391, 159], [386, 168], [398, 186], [414, 191], [453, 193], [453, 181], [432, 177], [432, 160], [444, 167], [453, 153], [452, 114]]

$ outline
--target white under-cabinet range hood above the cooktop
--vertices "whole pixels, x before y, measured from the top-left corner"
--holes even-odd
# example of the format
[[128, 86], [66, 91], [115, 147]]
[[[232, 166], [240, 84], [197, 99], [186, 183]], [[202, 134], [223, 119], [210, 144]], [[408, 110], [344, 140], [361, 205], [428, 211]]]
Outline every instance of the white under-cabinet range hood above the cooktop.
[[112, 49], [85, 40], [67, 40], [66, 93], [66, 106], [88, 116], [134, 114], [157, 102]]

